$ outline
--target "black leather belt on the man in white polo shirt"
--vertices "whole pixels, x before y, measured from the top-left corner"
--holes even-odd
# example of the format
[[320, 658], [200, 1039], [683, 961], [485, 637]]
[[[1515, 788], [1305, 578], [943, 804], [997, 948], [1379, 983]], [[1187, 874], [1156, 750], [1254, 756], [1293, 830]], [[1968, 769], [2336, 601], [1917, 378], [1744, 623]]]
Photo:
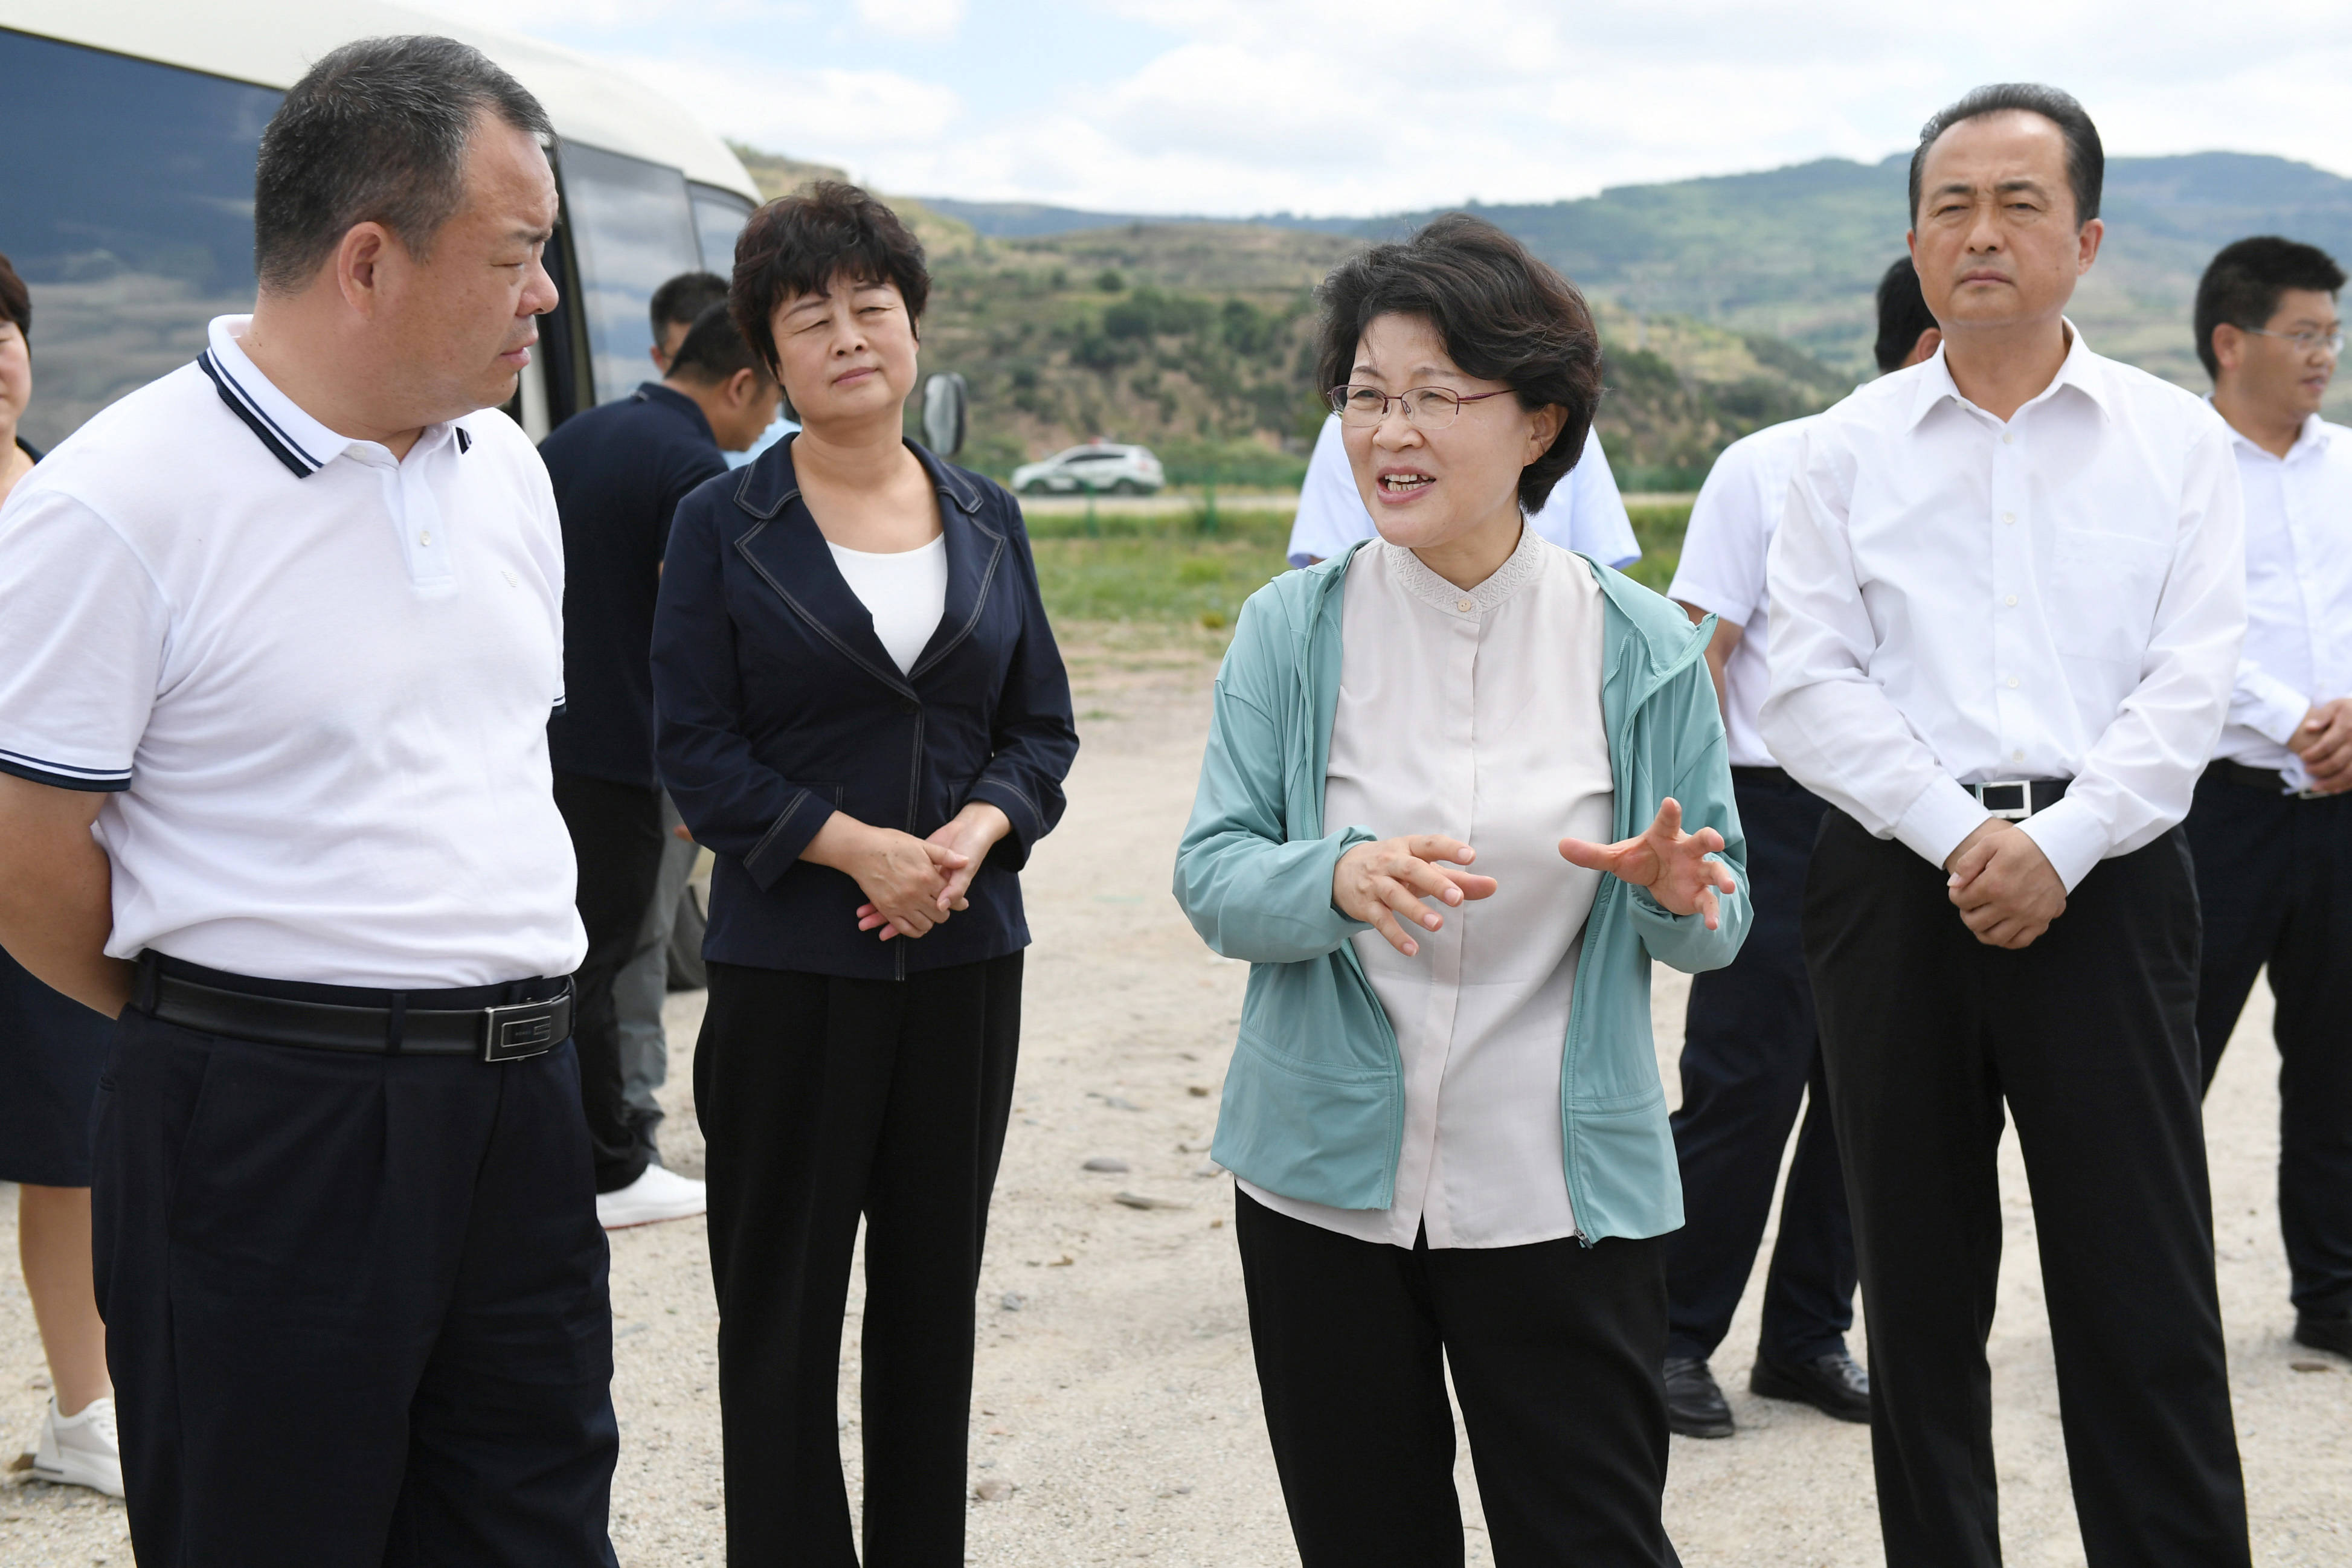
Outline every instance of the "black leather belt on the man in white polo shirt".
[[348, 1006], [223, 990], [141, 959], [132, 1006], [205, 1034], [376, 1056], [477, 1056], [485, 1063], [513, 1063], [553, 1051], [572, 1037], [569, 983], [562, 994], [543, 1001], [468, 1009]]

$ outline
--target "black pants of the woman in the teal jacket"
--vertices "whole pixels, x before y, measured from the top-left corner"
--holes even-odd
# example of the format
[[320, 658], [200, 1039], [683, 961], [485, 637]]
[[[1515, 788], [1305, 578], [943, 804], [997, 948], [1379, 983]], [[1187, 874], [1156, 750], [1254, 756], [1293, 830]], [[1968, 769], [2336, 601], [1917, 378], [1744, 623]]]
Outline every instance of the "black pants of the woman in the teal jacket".
[[1235, 1194], [1265, 1432], [1305, 1568], [1463, 1561], [1454, 1410], [1501, 1568], [1677, 1563], [1665, 1493], [1665, 1248], [1411, 1251]]

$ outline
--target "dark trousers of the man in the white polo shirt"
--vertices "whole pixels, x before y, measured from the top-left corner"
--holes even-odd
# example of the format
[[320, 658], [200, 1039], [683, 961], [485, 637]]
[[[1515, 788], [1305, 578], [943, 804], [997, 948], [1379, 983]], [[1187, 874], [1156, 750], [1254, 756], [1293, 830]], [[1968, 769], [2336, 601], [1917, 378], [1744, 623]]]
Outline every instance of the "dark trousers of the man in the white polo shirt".
[[127, 1011], [92, 1220], [141, 1563], [612, 1568], [569, 1046], [353, 1056]]

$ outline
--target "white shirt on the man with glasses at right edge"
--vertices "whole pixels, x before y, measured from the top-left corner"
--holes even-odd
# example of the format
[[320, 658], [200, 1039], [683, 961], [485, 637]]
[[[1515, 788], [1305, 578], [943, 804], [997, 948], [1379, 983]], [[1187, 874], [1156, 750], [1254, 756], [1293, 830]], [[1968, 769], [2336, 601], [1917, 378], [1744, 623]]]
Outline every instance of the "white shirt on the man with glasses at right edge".
[[2246, 489], [2246, 654], [2216, 757], [2312, 783], [2286, 750], [2312, 703], [2352, 693], [2352, 430], [2317, 414], [2274, 458], [2237, 430]]

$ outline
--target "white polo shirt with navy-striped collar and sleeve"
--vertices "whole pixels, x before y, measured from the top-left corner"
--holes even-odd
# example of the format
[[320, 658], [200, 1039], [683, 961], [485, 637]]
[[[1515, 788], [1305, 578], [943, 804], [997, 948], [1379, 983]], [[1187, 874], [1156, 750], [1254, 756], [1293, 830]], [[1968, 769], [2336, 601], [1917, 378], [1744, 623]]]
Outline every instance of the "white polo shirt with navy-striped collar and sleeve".
[[562, 529], [489, 409], [405, 458], [212, 322], [0, 508], [0, 766], [106, 790], [120, 959], [386, 990], [572, 973]]

